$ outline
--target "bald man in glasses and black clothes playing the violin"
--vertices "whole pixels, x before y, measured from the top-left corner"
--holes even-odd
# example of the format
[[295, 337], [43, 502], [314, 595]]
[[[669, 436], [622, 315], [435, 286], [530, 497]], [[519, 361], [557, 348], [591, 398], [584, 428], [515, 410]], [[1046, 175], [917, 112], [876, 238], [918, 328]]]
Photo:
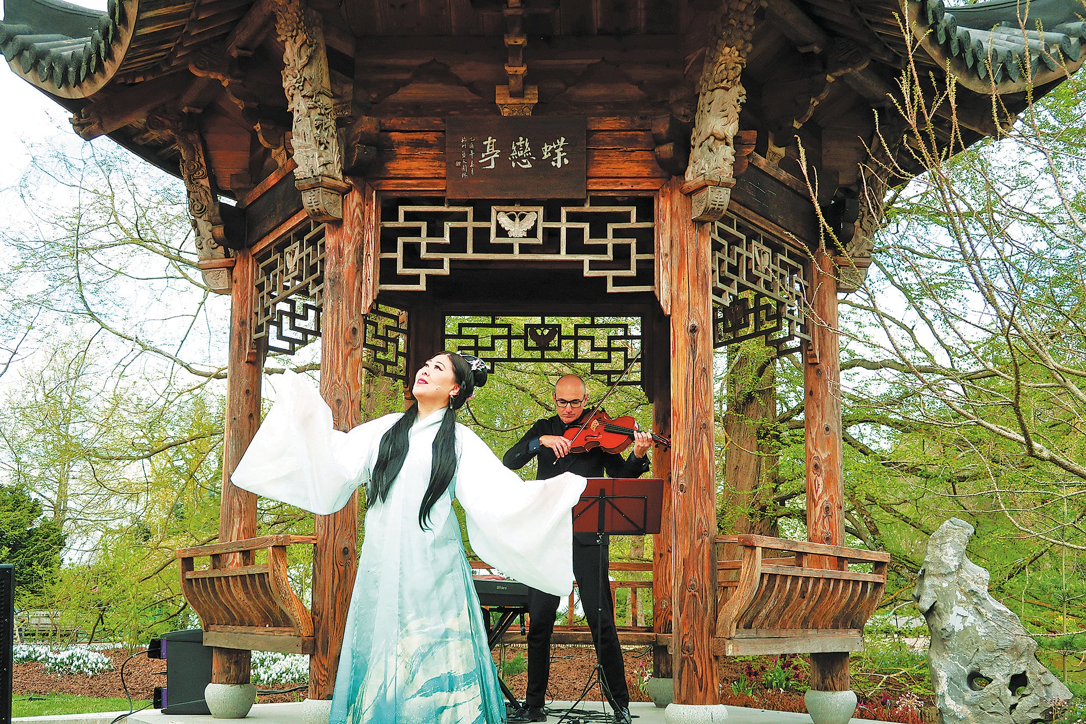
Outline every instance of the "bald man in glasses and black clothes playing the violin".
[[[584, 408], [588, 390], [584, 380], [566, 374], [554, 389], [557, 415], [538, 420], [528, 433], [502, 458], [505, 467], [519, 470], [533, 457], [539, 458], [538, 478], [545, 480], [563, 472], [574, 472], [585, 478], [639, 478], [648, 470], [646, 457], [653, 437], [637, 431], [633, 436], [633, 452], [626, 460], [621, 455], [607, 453], [598, 447], [584, 453], [570, 453], [570, 441], [563, 436], [570, 428], [579, 428], [589, 410]], [[603, 561], [608, 560], [608, 541], [604, 536]], [[573, 576], [581, 594], [581, 606], [592, 631], [592, 643], [603, 666], [606, 691], [609, 691], [615, 721], [630, 724], [630, 693], [626, 685], [626, 666], [622, 649], [615, 630], [615, 606], [611, 601], [607, 570], [603, 571], [604, 587], [599, 589], [599, 545], [595, 533], [573, 534]], [[603, 596], [601, 605], [599, 597]], [[551, 633], [559, 598], [542, 590], [530, 589], [528, 613], [528, 691], [520, 710], [513, 712], [509, 722], [545, 722], [543, 704], [547, 677], [551, 671]], [[597, 610], [602, 611], [599, 617]], [[598, 620], [597, 620], [598, 619]]]

